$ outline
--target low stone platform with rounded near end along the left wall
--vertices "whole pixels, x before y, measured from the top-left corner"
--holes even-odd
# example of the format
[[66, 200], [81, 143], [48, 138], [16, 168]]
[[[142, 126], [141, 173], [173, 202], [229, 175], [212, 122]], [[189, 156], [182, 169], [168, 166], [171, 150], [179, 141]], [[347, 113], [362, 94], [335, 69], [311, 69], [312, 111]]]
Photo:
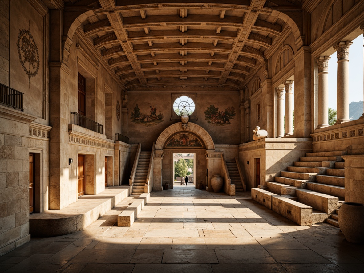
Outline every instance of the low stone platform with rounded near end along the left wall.
[[50, 237], [78, 232], [128, 197], [130, 191], [130, 186], [107, 187], [102, 193], [79, 197], [64, 209], [33, 213], [29, 215], [29, 233]]

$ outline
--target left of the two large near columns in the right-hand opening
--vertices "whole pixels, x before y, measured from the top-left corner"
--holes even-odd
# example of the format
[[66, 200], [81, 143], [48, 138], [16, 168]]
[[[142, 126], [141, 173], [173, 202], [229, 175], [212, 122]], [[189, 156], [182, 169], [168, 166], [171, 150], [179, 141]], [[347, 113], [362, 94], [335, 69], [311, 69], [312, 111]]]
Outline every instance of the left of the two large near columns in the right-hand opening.
[[318, 64], [318, 126], [316, 129], [329, 126], [329, 56], [320, 56]]

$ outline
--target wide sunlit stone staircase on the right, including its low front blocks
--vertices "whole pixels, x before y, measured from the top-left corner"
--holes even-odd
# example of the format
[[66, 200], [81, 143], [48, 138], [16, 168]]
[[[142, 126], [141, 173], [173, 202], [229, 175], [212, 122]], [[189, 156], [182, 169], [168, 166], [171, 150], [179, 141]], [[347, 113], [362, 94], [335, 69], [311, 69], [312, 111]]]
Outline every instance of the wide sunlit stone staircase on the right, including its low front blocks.
[[253, 188], [252, 199], [298, 225], [325, 221], [336, 225], [335, 214], [345, 194], [341, 155], [341, 151], [306, 153], [274, 181]]

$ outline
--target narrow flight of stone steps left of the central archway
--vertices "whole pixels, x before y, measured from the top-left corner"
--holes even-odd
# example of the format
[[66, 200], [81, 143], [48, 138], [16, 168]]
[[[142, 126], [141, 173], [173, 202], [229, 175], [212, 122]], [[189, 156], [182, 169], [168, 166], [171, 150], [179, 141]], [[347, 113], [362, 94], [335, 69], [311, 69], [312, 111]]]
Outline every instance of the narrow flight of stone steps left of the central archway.
[[144, 186], [147, 182], [146, 179], [148, 175], [150, 156], [151, 152], [140, 152], [131, 195], [141, 195], [144, 193]]

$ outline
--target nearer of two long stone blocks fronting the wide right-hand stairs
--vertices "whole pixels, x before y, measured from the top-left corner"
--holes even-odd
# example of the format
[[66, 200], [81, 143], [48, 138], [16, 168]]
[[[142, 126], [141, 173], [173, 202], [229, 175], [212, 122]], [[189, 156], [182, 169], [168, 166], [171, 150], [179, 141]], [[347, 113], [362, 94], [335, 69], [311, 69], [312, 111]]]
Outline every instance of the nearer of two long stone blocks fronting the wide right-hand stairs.
[[312, 207], [285, 196], [272, 196], [272, 210], [300, 226], [312, 225]]

